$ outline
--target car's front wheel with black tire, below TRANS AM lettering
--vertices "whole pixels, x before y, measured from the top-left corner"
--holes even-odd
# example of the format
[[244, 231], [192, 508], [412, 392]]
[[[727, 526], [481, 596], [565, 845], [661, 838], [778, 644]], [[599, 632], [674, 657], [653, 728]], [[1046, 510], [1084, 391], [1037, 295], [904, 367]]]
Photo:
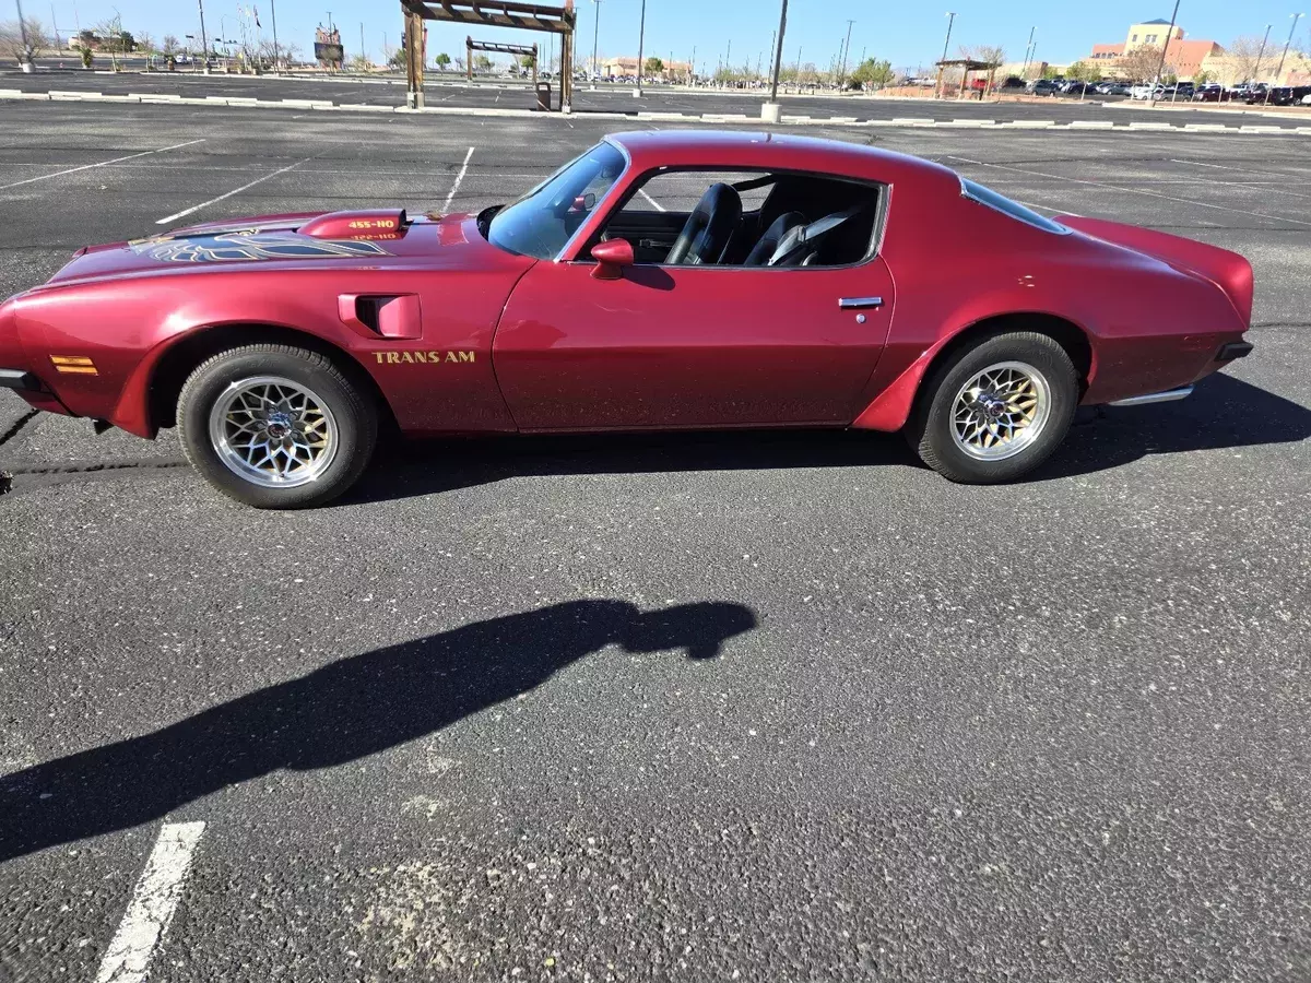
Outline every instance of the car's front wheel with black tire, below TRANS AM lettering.
[[350, 488], [378, 442], [372, 401], [324, 355], [248, 345], [203, 362], [177, 410], [193, 467], [256, 509], [323, 505]]

